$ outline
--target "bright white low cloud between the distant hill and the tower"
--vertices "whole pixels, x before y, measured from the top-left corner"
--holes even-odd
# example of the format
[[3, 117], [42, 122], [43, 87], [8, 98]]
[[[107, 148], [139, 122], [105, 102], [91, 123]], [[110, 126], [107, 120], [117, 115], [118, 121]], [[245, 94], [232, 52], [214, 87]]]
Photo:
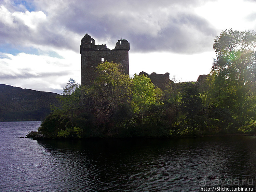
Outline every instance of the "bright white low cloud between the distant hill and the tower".
[[70, 78], [80, 82], [80, 54], [62, 52], [63, 59], [19, 53], [2, 54], [0, 80], [4, 84], [40, 91], [62, 92]]

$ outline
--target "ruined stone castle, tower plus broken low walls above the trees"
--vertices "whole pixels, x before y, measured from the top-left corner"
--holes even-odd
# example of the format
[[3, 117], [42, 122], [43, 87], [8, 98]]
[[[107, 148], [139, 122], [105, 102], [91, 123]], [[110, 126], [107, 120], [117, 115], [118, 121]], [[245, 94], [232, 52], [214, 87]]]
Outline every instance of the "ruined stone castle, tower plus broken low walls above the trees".
[[[81, 54], [81, 85], [91, 85], [95, 79], [95, 67], [104, 61], [113, 61], [122, 65], [124, 73], [129, 75], [129, 50], [130, 43], [125, 40], [119, 40], [113, 50], [107, 48], [106, 45], [96, 45], [95, 40], [87, 33], [81, 39], [80, 54]], [[170, 73], [150, 75], [144, 71], [139, 75], [148, 76], [152, 83], [161, 89], [165, 88], [165, 84], [170, 80]], [[209, 75], [201, 75], [198, 78], [198, 84], [206, 82], [206, 77]]]

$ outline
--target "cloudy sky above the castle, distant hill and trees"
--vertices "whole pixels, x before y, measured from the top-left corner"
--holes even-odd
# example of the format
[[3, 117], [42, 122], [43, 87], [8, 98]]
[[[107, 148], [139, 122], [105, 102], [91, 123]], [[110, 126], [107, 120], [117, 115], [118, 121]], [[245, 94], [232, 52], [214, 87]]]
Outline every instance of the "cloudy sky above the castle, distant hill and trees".
[[256, 30], [256, 0], [0, 0], [0, 84], [62, 93], [81, 82], [81, 39], [130, 42], [130, 76], [197, 81], [221, 31]]

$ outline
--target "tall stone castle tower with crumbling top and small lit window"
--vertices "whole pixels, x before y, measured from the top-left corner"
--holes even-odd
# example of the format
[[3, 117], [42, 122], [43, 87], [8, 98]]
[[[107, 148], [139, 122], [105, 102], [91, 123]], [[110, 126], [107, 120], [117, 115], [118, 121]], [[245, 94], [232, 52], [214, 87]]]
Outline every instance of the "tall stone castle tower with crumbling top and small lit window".
[[120, 63], [124, 73], [129, 75], [129, 55], [130, 43], [119, 40], [113, 50], [106, 45], [95, 45], [95, 40], [87, 33], [81, 39], [81, 85], [91, 85], [95, 79], [95, 67], [105, 61]]

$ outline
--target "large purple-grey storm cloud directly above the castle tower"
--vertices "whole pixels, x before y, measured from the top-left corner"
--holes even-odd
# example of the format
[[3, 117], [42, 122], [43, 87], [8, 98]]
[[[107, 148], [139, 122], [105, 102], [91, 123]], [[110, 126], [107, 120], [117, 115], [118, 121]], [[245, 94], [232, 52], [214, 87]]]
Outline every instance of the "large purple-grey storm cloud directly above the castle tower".
[[[116, 43], [127, 39], [133, 51], [206, 51], [215, 29], [190, 12], [200, 0], [173, 1], [69, 1], [58, 11], [58, 22], [69, 30]], [[44, 4], [48, 10], [49, 5]], [[46, 8], [47, 7], [47, 8]], [[191, 31], [190, 31], [191, 30]], [[97, 43], [97, 42], [96, 42]]]

